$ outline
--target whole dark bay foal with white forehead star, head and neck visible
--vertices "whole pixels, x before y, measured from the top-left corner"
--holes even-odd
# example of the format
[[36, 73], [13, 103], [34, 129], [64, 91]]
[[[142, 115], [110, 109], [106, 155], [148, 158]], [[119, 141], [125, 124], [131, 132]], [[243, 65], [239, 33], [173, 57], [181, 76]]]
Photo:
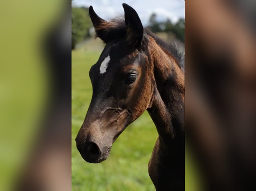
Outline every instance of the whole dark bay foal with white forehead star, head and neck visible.
[[148, 164], [156, 190], [184, 190], [184, 55], [144, 29], [136, 11], [105, 21], [89, 9], [106, 44], [90, 70], [92, 100], [78, 132], [87, 162], [107, 159], [113, 142], [145, 110], [159, 134]]

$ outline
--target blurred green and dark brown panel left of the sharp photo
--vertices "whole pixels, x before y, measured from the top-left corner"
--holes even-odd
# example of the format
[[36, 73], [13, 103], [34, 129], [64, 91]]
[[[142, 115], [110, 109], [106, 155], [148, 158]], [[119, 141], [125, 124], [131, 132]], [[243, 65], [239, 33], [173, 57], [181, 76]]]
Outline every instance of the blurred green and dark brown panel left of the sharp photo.
[[0, 190], [71, 190], [71, 1], [1, 1]]

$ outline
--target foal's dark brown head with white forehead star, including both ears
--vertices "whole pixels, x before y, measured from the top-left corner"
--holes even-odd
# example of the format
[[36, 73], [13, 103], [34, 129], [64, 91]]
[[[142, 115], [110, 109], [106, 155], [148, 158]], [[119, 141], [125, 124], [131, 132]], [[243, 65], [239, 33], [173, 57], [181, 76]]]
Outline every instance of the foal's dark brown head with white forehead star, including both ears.
[[107, 159], [113, 142], [149, 107], [153, 94], [148, 35], [136, 11], [123, 8], [124, 20], [109, 22], [89, 8], [96, 36], [106, 44], [89, 72], [93, 95], [76, 137], [79, 152], [91, 163]]

